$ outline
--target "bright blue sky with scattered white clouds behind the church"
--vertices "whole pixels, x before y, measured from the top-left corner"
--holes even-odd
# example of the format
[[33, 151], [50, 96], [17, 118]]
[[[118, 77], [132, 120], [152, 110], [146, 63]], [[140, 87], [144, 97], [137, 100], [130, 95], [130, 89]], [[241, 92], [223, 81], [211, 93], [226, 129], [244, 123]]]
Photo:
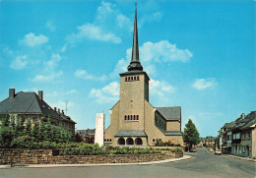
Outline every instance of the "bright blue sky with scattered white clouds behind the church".
[[[0, 0], [0, 100], [43, 90], [76, 129], [119, 98], [134, 0]], [[200, 136], [255, 110], [255, 1], [138, 0], [140, 60], [154, 106], [181, 106]]]

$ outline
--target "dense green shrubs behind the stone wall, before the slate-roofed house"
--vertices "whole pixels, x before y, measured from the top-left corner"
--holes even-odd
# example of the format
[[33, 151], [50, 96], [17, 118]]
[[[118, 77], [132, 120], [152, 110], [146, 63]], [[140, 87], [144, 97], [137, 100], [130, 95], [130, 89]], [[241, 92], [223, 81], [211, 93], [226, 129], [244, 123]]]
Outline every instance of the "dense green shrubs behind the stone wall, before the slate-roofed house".
[[[66, 148], [65, 144], [73, 142], [73, 134], [61, 127], [54, 126], [48, 119], [36, 121], [33, 126], [31, 119], [25, 125], [25, 119], [18, 117], [9, 120], [6, 115], [1, 119], [0, 125], [0, 148]], [[77, 147], [77, 146], [76, 146]], [[73, 146], [72, 146], [73, 148]]]

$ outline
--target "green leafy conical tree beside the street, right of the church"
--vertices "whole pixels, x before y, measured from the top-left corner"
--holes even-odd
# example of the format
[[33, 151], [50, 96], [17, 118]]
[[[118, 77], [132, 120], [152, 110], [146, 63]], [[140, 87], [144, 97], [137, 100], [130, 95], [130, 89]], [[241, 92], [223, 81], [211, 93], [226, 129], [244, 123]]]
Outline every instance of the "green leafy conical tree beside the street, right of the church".
[[198, 145], [200, 143], [199, 133], [191, 119], [185, 125], [183, 140], [189, 145], [189, 149], [192, 148], [192, 145]]

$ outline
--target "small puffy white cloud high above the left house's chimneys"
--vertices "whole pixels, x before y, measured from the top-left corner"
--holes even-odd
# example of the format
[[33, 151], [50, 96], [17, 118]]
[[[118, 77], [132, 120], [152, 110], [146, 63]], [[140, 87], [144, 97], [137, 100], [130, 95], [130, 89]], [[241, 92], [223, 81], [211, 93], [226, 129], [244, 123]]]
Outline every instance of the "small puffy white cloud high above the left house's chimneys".
[[26, 34], [25, 37], [20, 40], [20, 42], [29, 47], [34, 47], [36, 45], [48, 42], [48, 37], [43, 34], [36, 36], [34, 33], [30, 32], [29, 34]]

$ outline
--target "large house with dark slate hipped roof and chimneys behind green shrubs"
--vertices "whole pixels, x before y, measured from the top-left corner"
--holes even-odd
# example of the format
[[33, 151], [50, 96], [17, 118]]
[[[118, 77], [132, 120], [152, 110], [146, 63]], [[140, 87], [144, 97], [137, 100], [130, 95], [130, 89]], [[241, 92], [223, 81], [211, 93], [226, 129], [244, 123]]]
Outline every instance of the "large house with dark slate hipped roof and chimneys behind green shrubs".
[[26, 121], [31, 119], [34, 122], [41, 122], [43, 118], [45, 121], [50, 118], [53, 125], [60, 126], [67, 131], [75, 134], [75, 124], [69, 116], [65, 115], [64, 111], [60, 111], [54, 107], [52, 109], [43, 100], [43, 91], [39, 90], [38, 94], [35, 92], [15, 92], [15, 89], [9, 89], [9, 97], [0, 102], [0, 118], [9, 116], [11, 119], [17, 121], [18, 118]]

